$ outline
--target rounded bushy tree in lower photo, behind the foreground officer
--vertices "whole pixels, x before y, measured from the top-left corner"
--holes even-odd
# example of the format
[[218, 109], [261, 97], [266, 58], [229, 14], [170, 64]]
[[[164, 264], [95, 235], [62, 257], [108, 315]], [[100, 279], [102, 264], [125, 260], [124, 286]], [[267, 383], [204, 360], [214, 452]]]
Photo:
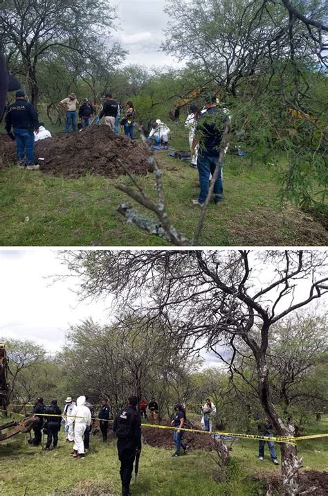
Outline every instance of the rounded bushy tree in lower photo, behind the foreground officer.
[[[109, 326], [86, 320], [71, 328], [60, 362], [75, 378], [78, 391], [88, 391], [97, 399], [106, 397], [119, 409], [131, 394], [139, 400], [150, 398], [160, 390], [160, 383], [165, 391], [181, 377], [183, 351], [176, 353], [156, 327], [145, 330], [141, 324], [124, 315]], [[186, 357], [184, 362], [188, 363]], [[165, 394], [158, 399], [161, 407], [167, 406]]]

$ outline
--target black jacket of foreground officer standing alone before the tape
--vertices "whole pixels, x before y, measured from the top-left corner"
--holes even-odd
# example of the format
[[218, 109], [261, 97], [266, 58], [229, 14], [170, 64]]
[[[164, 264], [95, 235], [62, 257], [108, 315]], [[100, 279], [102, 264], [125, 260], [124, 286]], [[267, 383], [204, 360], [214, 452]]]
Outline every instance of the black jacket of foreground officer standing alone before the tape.
[[137, 448], [141, 448], [141, 417], [134, 407], [123, 408], [115, 417], [113, 432], [118, 439], [131, 441]]

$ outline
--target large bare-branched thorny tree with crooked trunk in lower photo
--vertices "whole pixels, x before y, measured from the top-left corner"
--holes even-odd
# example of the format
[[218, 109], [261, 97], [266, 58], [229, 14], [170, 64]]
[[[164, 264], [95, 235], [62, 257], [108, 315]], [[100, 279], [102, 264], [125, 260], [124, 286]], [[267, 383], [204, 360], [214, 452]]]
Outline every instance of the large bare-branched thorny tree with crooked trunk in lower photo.
[[[328, 292], [327, 254], [316, 251], [80, 251], [66, 262], [81, 276], [84, 296], [116, 294], [116, 302], [164, 325], [176, 348], [232, 351], [255, 358], [257, 395], [278, 435], [293, 436], [273, 402], [268, 346], [272, 326]], [[151, 317], [151, 318], [150, 318]], [[240, 346], [240, 344], [243, 346]], [[244, 380], [247, 380], [244, 377]], [[297, 448], [282, 443], [282, 494], [299, 493]]]

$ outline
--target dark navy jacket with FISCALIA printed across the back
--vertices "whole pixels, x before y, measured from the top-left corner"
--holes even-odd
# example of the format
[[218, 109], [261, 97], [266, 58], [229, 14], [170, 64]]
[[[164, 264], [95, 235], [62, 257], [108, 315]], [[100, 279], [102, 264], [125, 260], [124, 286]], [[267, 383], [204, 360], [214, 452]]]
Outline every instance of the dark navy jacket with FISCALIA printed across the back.
[[31, 133], [39, 129], [37, 111], [33, 105], [26, 100], [16, 100], [8, 109], [5, 118], [6, 131], [10, 132], [11, 127], [14, 129], [27, 129]]

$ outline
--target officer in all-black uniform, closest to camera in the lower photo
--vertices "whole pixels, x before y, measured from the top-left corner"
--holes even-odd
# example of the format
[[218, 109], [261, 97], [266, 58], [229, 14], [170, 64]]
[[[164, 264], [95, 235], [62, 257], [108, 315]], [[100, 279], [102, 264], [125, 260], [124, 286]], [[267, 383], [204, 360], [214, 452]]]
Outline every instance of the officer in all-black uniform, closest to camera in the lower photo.
[[122, 496], [130, 495], [130, 481], [134, 469], [136, 453], [141, 450], [141, 417], [136, 406], [138, 398], [131, 396], [128, 405], [117, 415], [113, 423], [113, 432], [118, 437], [118, 459], [120, 460], [120, 478]]

